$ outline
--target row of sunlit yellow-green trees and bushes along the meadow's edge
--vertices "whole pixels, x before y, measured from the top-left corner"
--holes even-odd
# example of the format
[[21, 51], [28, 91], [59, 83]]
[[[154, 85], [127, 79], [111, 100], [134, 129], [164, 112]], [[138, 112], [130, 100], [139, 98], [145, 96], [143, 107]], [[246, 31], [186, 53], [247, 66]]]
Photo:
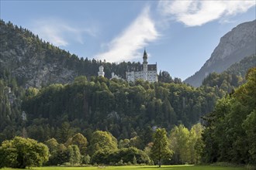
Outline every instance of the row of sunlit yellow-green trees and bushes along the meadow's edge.
[[[151, 141], [143, 149], [133, 139], [117, 140], [107, 131], [94, 131], [90, 141], [74, 134], [64, 143], [51, 138], [43, 143], [16, 137], [0, 145], [0, 168], [26, 168], [41, 165], [156, 165], [195, 164], [200, 162], [202, 125], [192, 129], [180, 124], [170, 133], [154, 129]], [[160, 135], [160, 136], [159, 136]], [[157, 147], [157, 148], [156, 148]], [[158, 148], [160, 147], [160, 148]], [[164, 150], [168, 150], [168, 153]], [[161, 154], [161, 158], [157, 155]]]

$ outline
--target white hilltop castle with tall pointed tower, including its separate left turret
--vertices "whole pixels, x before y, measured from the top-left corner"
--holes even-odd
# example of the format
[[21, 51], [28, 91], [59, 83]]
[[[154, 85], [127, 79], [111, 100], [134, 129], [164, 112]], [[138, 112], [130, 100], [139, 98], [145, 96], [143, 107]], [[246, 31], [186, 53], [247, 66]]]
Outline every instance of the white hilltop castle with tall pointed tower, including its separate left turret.
[[[103, 66], [99, 66], [99, 76], [104, 76]], [[119, 78], [115, 73], [112, 73], [112, 78]], [[147, 52], [144, 50], [143, 63], [136, 68], [130, 68], [126, 71], [126, 80], [135, 82], [138, 79], [149, 81], [150, 83], [157, 82], [157, 63], [147, 64]]]

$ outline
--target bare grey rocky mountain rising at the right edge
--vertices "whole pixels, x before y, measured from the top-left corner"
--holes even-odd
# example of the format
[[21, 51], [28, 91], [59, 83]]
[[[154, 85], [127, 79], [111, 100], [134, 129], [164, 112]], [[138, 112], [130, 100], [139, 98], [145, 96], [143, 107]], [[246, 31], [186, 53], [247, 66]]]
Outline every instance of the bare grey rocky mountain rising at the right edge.
[[199, 87], [209, 73], [221, 73], [233, 63], [256, 53], [256, 20], [244, 22], [220, 39], [202, 68], [184, 82]]

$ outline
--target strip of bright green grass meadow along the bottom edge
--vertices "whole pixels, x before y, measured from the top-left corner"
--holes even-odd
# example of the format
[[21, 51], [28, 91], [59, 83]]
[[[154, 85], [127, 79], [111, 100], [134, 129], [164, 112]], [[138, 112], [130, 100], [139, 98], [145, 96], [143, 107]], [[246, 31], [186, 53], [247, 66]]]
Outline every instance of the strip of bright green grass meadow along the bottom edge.
[[[33, 170], [99, 170], [99, 169], [113, 169], [113, 170], [246, 170], [241, 167], [221, 167], [221, 166], [198, 166], [198, 165], [163, 165], [161, 168], [157, 166], [106, 166], [106, 167], [40, 167], [30, 168]], [[13, 168], [3, 168], [3, 170], [13, 170]]]

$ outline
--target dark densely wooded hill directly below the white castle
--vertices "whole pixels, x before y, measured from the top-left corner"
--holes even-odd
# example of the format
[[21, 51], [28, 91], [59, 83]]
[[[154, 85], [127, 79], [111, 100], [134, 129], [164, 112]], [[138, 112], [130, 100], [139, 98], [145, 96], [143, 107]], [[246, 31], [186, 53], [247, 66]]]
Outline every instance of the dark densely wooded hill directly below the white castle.
[[[200, 116], [213, 110], [216, 100], [224, 94], [213, 87], [195, 89], [185, 84], [144, 81], [129, 84], [104, 77], [87, 81], [79, 76], [67, 85], [29, 88], [22, 110], [28, 117], [27, 133], [39, 141], [58, 136], [64, 122], [85, 136], [99, 129], [119, 139], [138, 135], [145, 140], [147, 128], [171, 129], [175, 124], [191, 127]], [[144, 145], [148, 142], [144, 141]]]

